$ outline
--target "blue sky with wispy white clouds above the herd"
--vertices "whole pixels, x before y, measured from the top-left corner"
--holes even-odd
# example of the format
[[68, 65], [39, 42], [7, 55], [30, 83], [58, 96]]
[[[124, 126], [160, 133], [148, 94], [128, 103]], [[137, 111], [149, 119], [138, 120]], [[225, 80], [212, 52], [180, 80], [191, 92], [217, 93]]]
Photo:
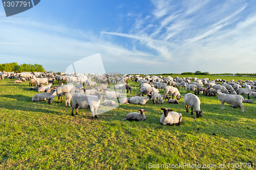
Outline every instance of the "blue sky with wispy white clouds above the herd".
[[[256, 72], [255, 1], [42, 0], [6, 17], [0, 63], [65, 71], [100, 53], [106, 72]], [[86, 67], [86, 65], [85, 65]]]

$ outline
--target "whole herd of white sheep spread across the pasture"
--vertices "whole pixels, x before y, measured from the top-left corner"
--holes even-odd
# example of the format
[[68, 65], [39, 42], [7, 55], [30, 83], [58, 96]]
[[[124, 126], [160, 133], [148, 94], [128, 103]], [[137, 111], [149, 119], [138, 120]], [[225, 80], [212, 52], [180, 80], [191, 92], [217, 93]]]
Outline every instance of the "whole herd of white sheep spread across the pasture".
[[[40, 93], [35, 94], [32, 97], [33, 102], [48, 101], [51, 104], [58, 96], [63, 99], [63, 95], [66, 97], [66, 106], [71, 107], [70, 102], [72, 100], [71, 114], [74, 116], [74, 110], [78, 114], [78, 108], [91, 109], [92, 119], [97, 118], [97, 108], [103, 100], [102, 106], [116, 107], [118, 104], [112, 100], [106, 99], [119, 99], [119, 104], [140, 104], [145, 105], [148, 100], [153, 101], [153, 104], [163, 104], [164, 100], [167, 100], [170, 104], [179, 104], [179, 100], [182, 95], [179, 92], [179, 87], [186, 88], [187, 93], [184, 95], [184, 103], [186, 112], [188, 112], [189, 106], [191, 107], [191, 114], [196, 112], [197, 118], [201, 113], [200, 99], [198, 94], [211, 96], [218, 95], [219, 101], [221, 101], [221, 109], [224, 109], [224, 103], [232, 105], [234, 108], [241, 107], [244, 112], [242, 103], [252, 103], [250, 96], [256, 97], [255, 81], [241, 81], [235, 82], [231, 80], [227, 82], [223, 79], [215, 79], [210, 81], [208, 78], [172, 78], [162, 76], [145, 76], [142, 78], [140, 75], [97, 75], [97, 74], [81, 74], [72, 73], [66, 74], [62, 72], [60, 75], [53, 72], [22, 72], [15, 74], [14, 72], [0, 72], [0, 79], [10, 78], [17, 79], [13, 83], [22, 83], [23, 81], [30, 80], [31, 90], [37, 90]], [[94, 81], [92, 81], [94, 79]], [[136, 93], [136, 96], [131, 98], [122, 98], [120, 92], [132, 93], [132, 88], [128, 85], [127, 80], [132, 80], [139, 83], [140, 93]], [[56, 87], [53, 87], [54, 81], [60, 82]], [[67, 84], [63, 84], [67, 83]], [[97, 83], [100, 84], [97, 86]], [[114, 91], [110, 91], [110, 84], [116, 83]], [[47, 85], [44, 85], [47, 84]], [[93, 88], [91, 88], [93, 87]], [[164, 90], [164, 94], [161, 95], [159, 89]], [[193, 91], [193, 93], [190, 93]], [[142, 95], [142, 96], [141, 96]], [[145, 95], [145, 96], [144, 96]], [[169, 95], [169, 96], [168, 96]], [[242, 95], [248, 95], [248, 100], [244, 99]], [[174, 99], [176, 98], [176, 99]], [[57, 102], [57, 103], [58, 103]], [[193, 109], [196, 109], [193, 111]], [[177, 113], [168, 108], [161, 108], [163, 114], [160, 118], [160, 122], [163, 125], [181, 125], [182, 114]], [[124, 119], [127, 120], [145, 120], [146, 116], [144, 112], [146, 110], [139, 109], [140, 113], [132, 112], [126, 115]]]

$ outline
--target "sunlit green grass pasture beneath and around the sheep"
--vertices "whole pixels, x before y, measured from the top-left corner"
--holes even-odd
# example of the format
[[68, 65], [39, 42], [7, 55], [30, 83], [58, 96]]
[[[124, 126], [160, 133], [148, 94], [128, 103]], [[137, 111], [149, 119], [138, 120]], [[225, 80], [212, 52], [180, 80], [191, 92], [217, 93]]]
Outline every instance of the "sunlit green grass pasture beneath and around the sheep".
[[[29, 81], [12, 82], [0, 81], [0, 169], [152, 169], [149, 163], [217, 165], [204, 169], [230, 163], [225, 169], [236, 169], [231, 163], [256, 163], [255, 103], [243, 104], [244, 113], [227, 104], [220, 110], [218, 96], [200, 94], [201, 118], [186, 113], [182, 98], [180, 105], [153, 105], [152, 100], [146, 105], [121, 105], [92, 120], [91, 111], [85, 109], [72, 117], [71, 109], [65, 102], [57, 104], [56, 98], [52, 105], [32, 102], [38, 92], [29, 90]], [[128, 95], [134, 96], [138, 83], [129, 84], [133, 91]], [[179, 90], [184, 96], [185, 89]], [[161, 107], [182, 113], [182, 125], [160, 125]], [[144, 122], [122, 120], [141, 108], [147, 110]], [[252, 168], [243, 165], [243, 169]]]

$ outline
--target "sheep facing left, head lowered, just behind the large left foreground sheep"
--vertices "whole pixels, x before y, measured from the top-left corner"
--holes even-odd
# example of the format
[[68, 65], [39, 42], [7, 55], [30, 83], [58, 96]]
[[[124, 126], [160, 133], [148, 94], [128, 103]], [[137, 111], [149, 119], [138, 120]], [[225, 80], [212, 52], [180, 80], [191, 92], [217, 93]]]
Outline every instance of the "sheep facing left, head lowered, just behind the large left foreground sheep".
[[58, 102], [57, 103], [59, 103], [59, 97], [61, 96], [61, 102], [60, 103], [62, 103], [63, 95], [66, 95], [68, 92], [75, 92], [75, 90], [76, 90], [76, 87], [72, 86], [72, 85], [60, 86], [60, 87], [56, 88], [54, 93], [50, 96], [50, 98], [48, 99], [48, 103], [52, 104], [52, 101], [55, 98], [55, 96], [58, 96]]

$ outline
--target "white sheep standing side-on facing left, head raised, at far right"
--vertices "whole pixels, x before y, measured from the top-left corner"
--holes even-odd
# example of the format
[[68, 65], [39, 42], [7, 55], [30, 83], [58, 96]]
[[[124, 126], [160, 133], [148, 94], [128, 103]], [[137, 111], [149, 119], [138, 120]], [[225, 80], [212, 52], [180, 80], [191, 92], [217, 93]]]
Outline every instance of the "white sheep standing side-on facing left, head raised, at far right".
[[242, 113], [244, 112], [244, 107], [243, 107], [243, 101], [244, 98], [242, 95], [234, 95], [234, 94], [224, 94], [221, 92], [221, 90], [217, 90], [218, 98], [219, 101], [221, 101], [221, 109], [224, 109], [224, 103], [230, 104], [230, 105], [235, 105], [238, 104], [238, 106], [241, 107]]

